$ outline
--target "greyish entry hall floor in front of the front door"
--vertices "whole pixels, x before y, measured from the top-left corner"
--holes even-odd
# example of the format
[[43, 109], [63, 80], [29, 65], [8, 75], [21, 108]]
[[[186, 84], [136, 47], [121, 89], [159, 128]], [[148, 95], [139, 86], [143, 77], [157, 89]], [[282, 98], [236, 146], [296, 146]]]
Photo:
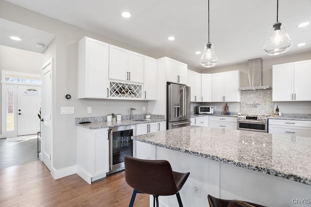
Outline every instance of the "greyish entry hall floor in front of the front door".
[[[7, 142], [7, 139], [0, 139], [0, 169], [20, 165], [38, 160], [36, 135], [21, 136], [23, 141]], [[21, 137], [17, 137], [20, 140]], [[28, 139], [35, 137], [35, 139]], [[40, 143], [39, 143], [40, 145]]]

